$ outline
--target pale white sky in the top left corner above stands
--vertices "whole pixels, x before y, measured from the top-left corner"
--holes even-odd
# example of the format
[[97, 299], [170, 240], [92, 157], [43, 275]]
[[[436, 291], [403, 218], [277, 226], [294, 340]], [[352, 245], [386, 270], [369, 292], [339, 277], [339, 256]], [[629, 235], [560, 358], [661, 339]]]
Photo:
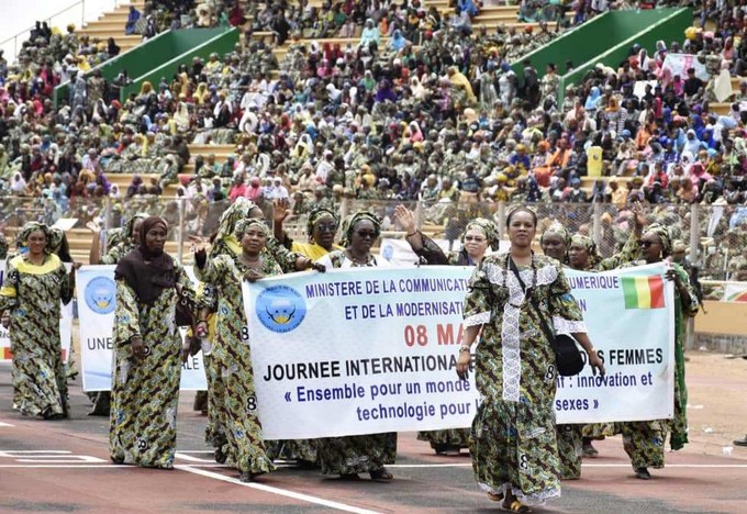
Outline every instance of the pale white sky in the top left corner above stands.
[[[0, 42], [34, 26], [36, 20], [46, 21], [66, 8], [70, 9], [53, 18], [49, 26], [58, 26], [63, 32], [70, 23], [80, 27], [83, 19], [86, 22], [97, 20], [102, 13], [124, 3], [130, 3], [130, 1], [85, 0], [85, 3], [79, 3], [79, 0], [0, 0], [2, 13], [0, 14]], [[21, 48], [21, 43], [27, 38], [27, 32], [18, 37], [18, 47]], [[4, 57], [9, 63], [15, 60], [13, 40], [2, 43], [0, 47], [5, 51]]]

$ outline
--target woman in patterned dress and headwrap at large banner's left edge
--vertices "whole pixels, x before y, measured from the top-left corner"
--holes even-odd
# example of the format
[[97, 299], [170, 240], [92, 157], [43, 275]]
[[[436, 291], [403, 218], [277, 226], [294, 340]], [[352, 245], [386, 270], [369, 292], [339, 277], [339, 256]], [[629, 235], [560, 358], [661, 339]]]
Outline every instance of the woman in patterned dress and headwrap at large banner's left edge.
[[236, 225], [236, 238], [242, 253], [235, 258], [221, 254], [208, 258], [204, 243], [194, 242], [194, 275], [215, 287], [215, 339], [210, 356], [216, 372], [213, 384], [221, 386], [222, 404], [211, 404], [219, 416], [227, 440], [227, 461], [241, 472], [243, 482], [250, 482], [275, 470], [261, 438], [254, 390], [252, 353], [246, 329], [242, 283], [280, 275], [280, 266], [265, 249], [269, 230], [263, 220], [244, 219]]

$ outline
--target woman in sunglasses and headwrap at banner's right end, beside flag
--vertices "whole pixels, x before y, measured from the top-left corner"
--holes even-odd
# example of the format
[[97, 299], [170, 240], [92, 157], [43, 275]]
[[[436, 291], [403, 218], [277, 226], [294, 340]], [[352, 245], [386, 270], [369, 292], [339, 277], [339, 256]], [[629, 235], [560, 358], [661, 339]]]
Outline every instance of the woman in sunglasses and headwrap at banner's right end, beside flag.
[[[640, 238], [644, 262], [631, 266], [660, 262], [671, 255], [672, 239], [669, 230], [651, 224]], [[688, 272], [678, 264], [671, 262], [666, 273], [667, 280], [674, 282], [674, 417], [648, 422], [621, 423], [623, 447], [631, 457], [635, 477], [640, 480], [651, 478], [648, 468], [664, 468], [664, 443], [669, 433], [669, 445], [679, 450], [688, 443], [688, 389], [684, 383], [684, 315], [698, 314], [698, 297], [690, 284]]]

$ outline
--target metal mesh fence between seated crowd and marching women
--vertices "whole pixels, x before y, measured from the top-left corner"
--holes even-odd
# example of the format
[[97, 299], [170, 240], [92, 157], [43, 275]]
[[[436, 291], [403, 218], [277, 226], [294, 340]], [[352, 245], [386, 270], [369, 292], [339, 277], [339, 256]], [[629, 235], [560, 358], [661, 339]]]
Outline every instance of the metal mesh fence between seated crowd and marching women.
[[[394, 217], [394, 206], [404, 204], [416, 216], [419, 226], [443, 239], [457, 239], [475, 217], [487, 217], [505, 234], [505, 216], [517, 204], [504, 202], [401, 202], [387, 200], [330, 200], [330, 205], [346, 216], [359, 210], [376, 212], [382, 219], [384, 232], [397, 235], [402, 228]], [[131, 199], [0, 198], [0, 228], [12, 239], [15, 231], [29, 221], [54, 224], [69, 219], [76, 237], [85, 234], [86, 223], [99, 221], [104, 228], [122, 226], [135, 213], [147, 213], [166, 219], [169, 241], [176, 243], [179, 258], [190, 235], [209, 237], [218, 228], [218, 221], [228, 201], [209, 202], [205, 199], [134, 197]], [[625, 208], [603, 203], [537, 203], [531, 204], [539, 219], [538, 234], [553, 223], [562, 224], [571, 233], [592, 236], [603, 256], [612, 255], [627, 239], [632, 213]], [[260, 204], [271, 225], [272, 205]], [[698, 265], [701, 277], [707, 280], [747, 279], [747, 205], [646, 205], [649, 221], [666, 224], [672, 237], [687, 248], [687, 258]], [[73, 222], [75, 220], [75, 222]], [[306, 241], [306, 214], [293, 215], [283, 224], [297, 241]]]

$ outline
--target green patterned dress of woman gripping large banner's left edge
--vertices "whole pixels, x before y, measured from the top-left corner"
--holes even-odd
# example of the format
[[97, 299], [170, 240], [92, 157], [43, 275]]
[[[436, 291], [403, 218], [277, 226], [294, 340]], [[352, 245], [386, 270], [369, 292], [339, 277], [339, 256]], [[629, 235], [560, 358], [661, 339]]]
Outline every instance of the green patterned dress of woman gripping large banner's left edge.
[[[263, 254], [264, 255], [264, 254]], [[214, 436], [225, 436], [221, 451], [226, 463], [239, 471], [263, 473], [275, 466], [267, 456], [257, 417], [257, 396], [254, 389], [249, 334], [246, 329], [242, 283], [248, 271], [244, 264], [228, 255], [208, 259], [205, 266], [194, 267], [199, 280], [215, 288], [215, 336], [210, 356], [211, 392], [209, 411], [216, 416]], [[266, 276], [282, 270], [271, 258], [265, 258], [260, 271]]]

